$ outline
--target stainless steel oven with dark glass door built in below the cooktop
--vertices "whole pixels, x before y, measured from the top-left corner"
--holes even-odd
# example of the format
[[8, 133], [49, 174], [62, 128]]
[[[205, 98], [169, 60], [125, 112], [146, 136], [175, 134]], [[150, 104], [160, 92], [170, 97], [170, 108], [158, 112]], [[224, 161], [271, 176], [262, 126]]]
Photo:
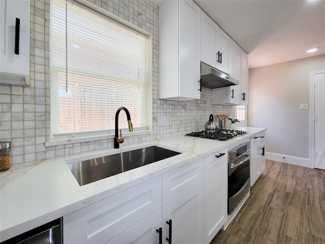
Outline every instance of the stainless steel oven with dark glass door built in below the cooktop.
[[228, 151], [228, 215], [231, 215], [250, 188], [250, 141]]

